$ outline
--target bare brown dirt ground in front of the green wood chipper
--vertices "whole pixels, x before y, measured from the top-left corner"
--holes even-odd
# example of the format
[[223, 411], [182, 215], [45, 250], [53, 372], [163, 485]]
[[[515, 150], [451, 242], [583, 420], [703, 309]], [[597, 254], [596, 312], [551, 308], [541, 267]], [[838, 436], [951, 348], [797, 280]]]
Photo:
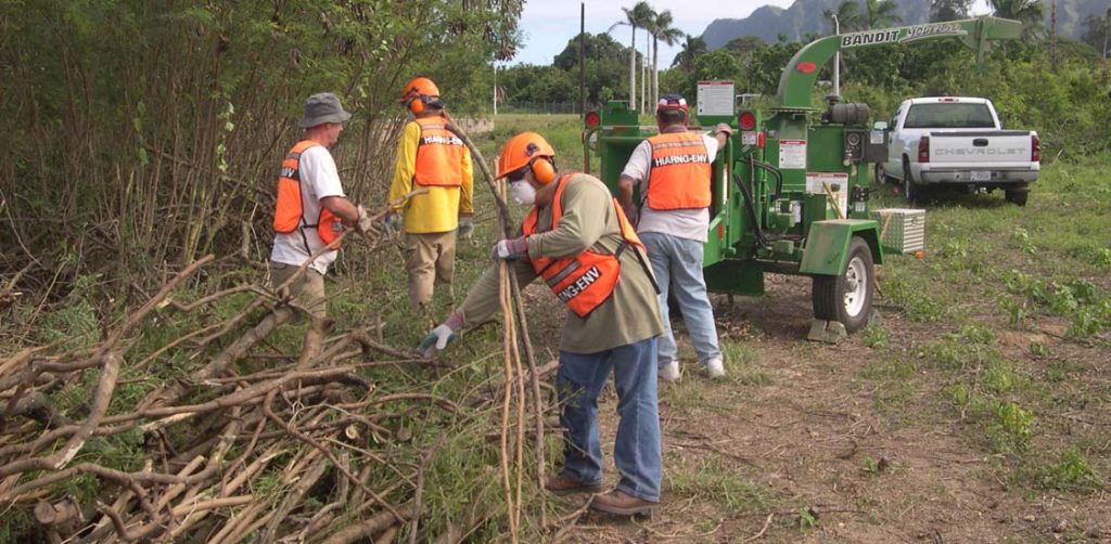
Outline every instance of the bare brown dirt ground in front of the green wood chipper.
[[[932, 371], [907, 376], [905, 389], [899, 380], [872, 377], [870, 369], [914, 357], [950, 326], [912, 323], [898, 309], [881, 308], [890, 331], [883, 349], [865, 346], [862, 334], [839, 345], [815, 344], [805, 340], [810, 281], [769, 276], [768, 283], [762, 299], [737, 298], [730, 305], [714, 295], [722, 344], [741, 350], [725, 350], [727, 380], [701, 376], [687, 345], [680, 352], [682, 381], [660, 384], [659, 513], [624, 520], [587, 512], [557, 540], [1111, 542], [1105, 491], [1051, 494], [1009, 484], [999, 475], [1002, 460], [938, 402], [943, 380]], [[538, 323], [534, 330], [548, 335], [558, 326]], [[1014, 335], [1022, 338], [1000, 334], [1003, 350], [1029, 343], [1025, 333]], [[1067, 351], [1052, 336], [1039, 340]], [[1078, 356], [1091, 356], [1080, 351]], [[1111, 383], [1108, 377], [1104, 370], [1101, 379]], [[617, 480], [614, 411], [611, 392], [600, 410], [610, 484]], [[1107, 415], [1105, 406], [1097, 407], [1085, 420], [1103, 425], [1104, 449], [1111, 447]], [[1068, 432], [1043, 426], [1054, 427], [1050, 441]], [[557, 504], [568, 514], [584, 501]]]

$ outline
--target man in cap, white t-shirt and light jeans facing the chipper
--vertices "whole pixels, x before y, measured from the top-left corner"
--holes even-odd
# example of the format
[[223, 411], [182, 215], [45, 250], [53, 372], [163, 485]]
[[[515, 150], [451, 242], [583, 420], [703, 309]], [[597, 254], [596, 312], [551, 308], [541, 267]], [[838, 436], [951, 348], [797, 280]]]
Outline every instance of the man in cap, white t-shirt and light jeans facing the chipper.
[[[725, 375], [713, 308], [702, 278], [702, 244], [710, 224], [710, 165], [733, 130], [725, 123], [713, 137], [687, 130], [687, 101], [678, 94], [660, 98], [655, 122], [660, 133], [638, 145], [618, 181], [618, 195], [637, 233], [648, 248], [660, 282], [660, 379], [679, 380], [679, 350], [668, 315], [668, 290], [682, 310], [699, 363], [710, 377]], [[633, 188], [640, 202], [633, 203]]]

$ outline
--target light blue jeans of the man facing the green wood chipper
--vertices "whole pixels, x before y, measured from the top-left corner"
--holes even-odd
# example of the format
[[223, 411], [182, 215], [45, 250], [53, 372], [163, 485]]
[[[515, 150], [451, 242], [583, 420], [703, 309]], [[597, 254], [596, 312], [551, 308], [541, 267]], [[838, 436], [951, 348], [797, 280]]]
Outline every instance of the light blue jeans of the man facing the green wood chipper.
[[660, 316], [663, 319], [663, 336], [660, 336], [660, 366], [679, 357], [675, 335], [671, 331], [668, 316], [668, 290], [675, 289], [675, 300], [683, 312], [687, 332], [691, 335], [698, 362], [702, 365], [714, 357], [721, 357], [718, 349], [718, 328], [713, 322], [713, 308], [705, 293], [702, 278], [702, 242], [672, 236], [660, 232], [639, 234], [648, 249], [648, 260], [660, 284]]

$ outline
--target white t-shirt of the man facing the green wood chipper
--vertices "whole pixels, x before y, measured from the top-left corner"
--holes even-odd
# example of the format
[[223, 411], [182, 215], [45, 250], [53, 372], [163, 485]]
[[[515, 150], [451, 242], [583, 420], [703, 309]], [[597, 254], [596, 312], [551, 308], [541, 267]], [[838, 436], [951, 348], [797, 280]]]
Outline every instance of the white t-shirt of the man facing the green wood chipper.
[[[705, 152], [710, 160], [718, 154], [718, 139], [702, 134], [702, 142], [705, 144]], [[648, 191], [648, 170], [652, 163], [652, 144], [648, 140], [640, 142], [632, 151], [632, 157], [625, 163], [621, 175], [628, 175], [637, 180], [641, 198]], [[705, 180], [707, 183], [710, 180]], [[641, 204], [638, 202], [638, 204]], [[710, 210], [700, 208], [697, 210], [652, 210], [647, 203], [640, 205], [640, 222], [637, 223], [637, 232], [661, 232], [672, 236], [685, 238], [705, 242], [707, 229], [710, 226]]]

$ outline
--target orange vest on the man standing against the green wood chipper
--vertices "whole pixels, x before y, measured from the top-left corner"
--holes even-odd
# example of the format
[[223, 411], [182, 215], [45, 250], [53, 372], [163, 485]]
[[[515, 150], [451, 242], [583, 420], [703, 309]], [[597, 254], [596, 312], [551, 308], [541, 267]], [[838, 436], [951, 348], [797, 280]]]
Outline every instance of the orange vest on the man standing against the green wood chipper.
[[710, 153], [697, 132], [669, 132], [648, 139], [652, 160], [648, 206], [689, 210], [710, 206]]

